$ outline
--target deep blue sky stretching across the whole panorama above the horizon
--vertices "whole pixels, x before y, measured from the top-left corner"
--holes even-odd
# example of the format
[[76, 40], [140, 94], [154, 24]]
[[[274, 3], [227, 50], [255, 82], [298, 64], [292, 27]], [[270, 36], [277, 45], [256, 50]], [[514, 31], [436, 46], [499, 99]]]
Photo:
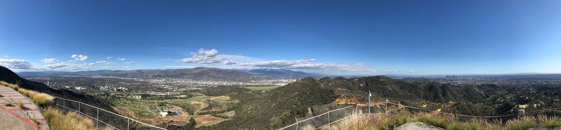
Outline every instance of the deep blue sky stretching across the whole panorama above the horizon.
[[0, 66], [561, 73], [559, 12], [561, 1], [1, 1]]

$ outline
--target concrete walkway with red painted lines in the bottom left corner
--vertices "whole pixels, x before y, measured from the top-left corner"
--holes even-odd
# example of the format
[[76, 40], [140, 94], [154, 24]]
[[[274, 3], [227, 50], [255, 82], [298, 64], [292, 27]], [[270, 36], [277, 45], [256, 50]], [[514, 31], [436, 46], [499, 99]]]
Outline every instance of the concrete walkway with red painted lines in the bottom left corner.
[[[39, 106], [33, 104], [29, 97], [2, 85], [0, 95], [0, 129], [50, 129]], [[24, 109], [17, 106], [18, 101], [24, 103]], [[6, 103], [11, 103], [12, 106], [7, 106]], [[38, 123], [34, 123], [32, 118]]]

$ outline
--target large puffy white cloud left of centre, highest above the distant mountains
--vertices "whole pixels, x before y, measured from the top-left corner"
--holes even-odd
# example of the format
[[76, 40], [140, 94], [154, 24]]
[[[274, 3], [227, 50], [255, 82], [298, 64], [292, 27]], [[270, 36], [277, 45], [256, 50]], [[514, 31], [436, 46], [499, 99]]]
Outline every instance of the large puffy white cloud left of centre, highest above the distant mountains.
[[222, 61], [222, 57], [215, 57], [218, 54], [218, 50], [211, 49], [205, 50], [203, 48], [199, 49], [197, 53], [191, 53], [191, 58], [181, 59], [181, 61], [185, 63], [220, 63]]

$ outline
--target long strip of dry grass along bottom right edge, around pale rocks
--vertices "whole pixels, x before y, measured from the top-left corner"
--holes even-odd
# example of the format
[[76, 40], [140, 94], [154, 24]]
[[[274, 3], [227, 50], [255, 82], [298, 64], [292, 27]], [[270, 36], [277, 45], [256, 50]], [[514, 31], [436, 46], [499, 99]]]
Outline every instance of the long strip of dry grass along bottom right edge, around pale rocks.
[[508, 120], [507, 123], [490, 123], [488, 120], [473, 118], [471, 120], [462, 121], [452, 115], [439, 114], [417, 114], [413, 115], [407, 112], [397, 114], [379, 114], [379, 115], [355, 115], [340, 123], [335, 123], [332, 129], [394, 129], [407, 122], [424, 122], [432, 124], [444, 129], [500, 129], [500, 130], [519, 130], [536, 127], [561, 127], [561, 119], [557, 117], [546, 117], [539, 115], [537, 117], [522, 117], [518, 119]]

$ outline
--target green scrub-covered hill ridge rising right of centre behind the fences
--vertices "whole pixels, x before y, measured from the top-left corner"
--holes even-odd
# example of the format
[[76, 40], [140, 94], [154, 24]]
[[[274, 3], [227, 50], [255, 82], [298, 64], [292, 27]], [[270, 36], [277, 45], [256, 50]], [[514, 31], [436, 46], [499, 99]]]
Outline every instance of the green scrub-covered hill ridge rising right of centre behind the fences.
[[[236, 116], [208, 129], [232, 129], [229, 126], [251, 129], [280, 128], [296, 122], [295, 117], [312, 117], [324, 113], [327, 109], [347, 106], [334, 104], [336, 100], [348, 98], [346, 103], [365, 103], [367, 101], [365, 91], [372, 91], [378, 97], [435, 102], [477, 102], [485, 98], [484, 92], [477, 87], [432, 82], [408, 83], [385, 76], [326, 77], [320, 80], [308, 77], [241, 100], [241, 103], [233, 108], [237, 113]], [[231, 95], [247, 97], [255, 94], [235, 92]]]

